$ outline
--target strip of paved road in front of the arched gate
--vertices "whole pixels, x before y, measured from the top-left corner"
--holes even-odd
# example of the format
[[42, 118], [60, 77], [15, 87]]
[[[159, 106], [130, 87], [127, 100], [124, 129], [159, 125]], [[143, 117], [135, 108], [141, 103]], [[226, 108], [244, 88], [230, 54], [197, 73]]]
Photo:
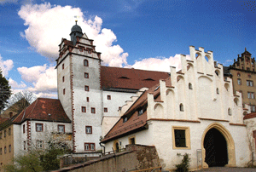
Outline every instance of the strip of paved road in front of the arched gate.
[[212, 167], [208, 169], [201, 169], [201, 170], [196, 170], [196, 171], [202, 171], [202, 172], [213, 172], [213, 171], [220, 171], [220, 172], [256, 172], [256, 169], [251, 169], [251, 168], [229, 168], [229, 167]]

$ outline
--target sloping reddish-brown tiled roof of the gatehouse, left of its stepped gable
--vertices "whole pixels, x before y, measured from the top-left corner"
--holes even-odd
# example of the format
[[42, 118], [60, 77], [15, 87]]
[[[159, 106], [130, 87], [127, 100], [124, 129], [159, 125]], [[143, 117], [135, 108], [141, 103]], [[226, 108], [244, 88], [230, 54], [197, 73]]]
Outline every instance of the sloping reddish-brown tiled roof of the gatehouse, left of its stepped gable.
[[[168, 77], [166, 80], [166, 87], [171, 87], [171, 78]], [[148, 103], [148, 93], [154, 95], [154, 100], [160, 100], [160, 84], [154, 85], [150, 89], [143, 92], [143, 94], [133, 103], [133, 105], [125, 112], [125, 114], [119, 118], [119, 121], [113, 125], [113, 128], [109, 130], [108, 134], [105, 135], [102, 143], [107, 140], [113, 140], [122, 135], [130, 135], [137, 130], [147, 129], [147, 110], [142, 115], [138, 116], [137, 110], [140, 107], [145, 106]], [[128, 120], [124, 123], [124, 118]], [[130, 118], [129, 118], [130, 117]]]

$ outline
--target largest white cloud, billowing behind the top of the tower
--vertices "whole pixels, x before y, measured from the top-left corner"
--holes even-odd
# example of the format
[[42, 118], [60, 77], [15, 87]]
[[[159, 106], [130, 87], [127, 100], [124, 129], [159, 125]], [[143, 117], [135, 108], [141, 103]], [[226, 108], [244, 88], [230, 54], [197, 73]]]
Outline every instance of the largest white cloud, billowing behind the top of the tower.
[[74, 25], [73, 16], [77, 15], [79, 26], [90, 39], [95, 40], [96, 51], [102, 53], [103, 65], [127, 65], [128, 54], [124, 53], [119, 45], [113, 45], [117, 37], [111, 30], [102, 29], [100, 17], [95, 16], [93, 19], [85, 20], [79, 8], [52, 6], [50, 3], [23, 5], [18, 14], [25, 20], [25, 26], [28, 26], [25, 32], [20, 32], [20, 36], [26, 37], [31, 47], [49, 60], [58, 57], [61, 37], [70, 39], [69, 33]]

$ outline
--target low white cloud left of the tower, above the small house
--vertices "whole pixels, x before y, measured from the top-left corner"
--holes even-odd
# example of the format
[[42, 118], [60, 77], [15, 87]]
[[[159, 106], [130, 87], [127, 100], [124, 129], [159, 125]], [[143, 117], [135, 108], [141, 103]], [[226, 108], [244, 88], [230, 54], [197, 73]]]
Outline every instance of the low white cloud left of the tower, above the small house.
[[36, 95], [55, 95], [57, 91], [57, 74], [55, 66], [19, 67], [21, 78], [32, 85], [26, 90]]

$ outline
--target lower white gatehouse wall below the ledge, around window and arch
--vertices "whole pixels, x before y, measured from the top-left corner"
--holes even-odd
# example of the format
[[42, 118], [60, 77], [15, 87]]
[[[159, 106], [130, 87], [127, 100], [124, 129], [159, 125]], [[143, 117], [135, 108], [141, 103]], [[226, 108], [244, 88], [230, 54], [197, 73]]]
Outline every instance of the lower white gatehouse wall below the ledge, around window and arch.
[[[172, 122], [172, 121], [149, 121], [148, 129], [136, 134], [126, 135], [125, 137], [109, 141], [106, 146], [106, 152], [111, 152], [114, 141], [121, 142], [121, 147], [129, 144], [129, 137], [135, 136], [136, 144], [155, 146], [159, 153], [160, 162], [165, 169], [175, 169], [175, 164], [181, 163], [182, 157], [178, 157], [177, 153], [184, 154], [189, 153], [191, 158], [189, 169], [197, 168], [197, 154], [196, 150], [201, 150], [201, 143], [203, 141], [202, 135], [211, 123], [214, 121], [202, 120], [201, 123], [184, 123], [184, 122]], [[247, 166], [249, 162], [250, 152], [247, 146], [246, 127], [233, 126], [228, 122], [217, 122], [224, 126], [225, 129], [230, 131], [235, 142], [236, 148], [236, 165], [239, 167]], [[190, 130], [190, 146], [191, 149], [173, 149], [172, 144], [172, 127], [183, 126], [189, 127]]]

